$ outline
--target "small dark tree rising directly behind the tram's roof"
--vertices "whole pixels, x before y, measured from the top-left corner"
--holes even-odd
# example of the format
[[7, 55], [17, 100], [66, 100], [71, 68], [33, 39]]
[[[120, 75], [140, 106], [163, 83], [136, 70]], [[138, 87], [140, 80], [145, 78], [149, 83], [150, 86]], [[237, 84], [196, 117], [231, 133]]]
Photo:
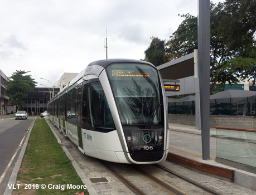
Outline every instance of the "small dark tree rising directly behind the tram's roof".
[[160, 40], [157, 37], [150, 37], [152, 42], [147, 48], [145, 53], [145, 61], [151, 62], [154, 66], [159, 66], [168, 62], [166, 56], [165, 41]]

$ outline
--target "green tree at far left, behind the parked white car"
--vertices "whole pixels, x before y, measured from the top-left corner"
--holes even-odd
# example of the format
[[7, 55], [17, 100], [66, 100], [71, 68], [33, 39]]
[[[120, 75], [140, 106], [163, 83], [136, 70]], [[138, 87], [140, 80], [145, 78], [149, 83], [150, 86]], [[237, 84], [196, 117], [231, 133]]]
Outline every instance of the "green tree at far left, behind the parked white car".
[[37, 84], [35, 79], [31, 78], [31, 75], [25, 75], [27, 72], [16, 70], [6, 82], [6, 92], [10, 95], [9, 104], [16, 105], [16, 108], [25, 104], [24, 100], [27, 97], [27, 92], [33, 91]]

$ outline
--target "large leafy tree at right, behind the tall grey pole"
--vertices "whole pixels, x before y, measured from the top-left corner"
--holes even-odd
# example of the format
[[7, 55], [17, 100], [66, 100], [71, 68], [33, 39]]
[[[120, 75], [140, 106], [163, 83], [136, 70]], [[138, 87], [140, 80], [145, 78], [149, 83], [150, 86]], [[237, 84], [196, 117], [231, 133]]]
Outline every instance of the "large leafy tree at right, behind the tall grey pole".
[[[197, 17], [190, 14], [182, 14], [181, 17], [184, 18], [183, 22], [166, 42], [166, 62], [197, 49]], [[239, 79], [236, 76], [241, 79], [246, 76], [252, 78], [253, 71], [245, 69], [250, 69], [250, 59], [256, 58], [256, 1], [226, 0], [223, 3], [211, 3], [210, 22], [210, 91], [216, 83], [237, 83]], [[244, 58], [243, 71], [238, 63], [229, 63], [233, 58], [238, 58], [236, 62]], [[228, 66], [233, 67], [227, 69]]]

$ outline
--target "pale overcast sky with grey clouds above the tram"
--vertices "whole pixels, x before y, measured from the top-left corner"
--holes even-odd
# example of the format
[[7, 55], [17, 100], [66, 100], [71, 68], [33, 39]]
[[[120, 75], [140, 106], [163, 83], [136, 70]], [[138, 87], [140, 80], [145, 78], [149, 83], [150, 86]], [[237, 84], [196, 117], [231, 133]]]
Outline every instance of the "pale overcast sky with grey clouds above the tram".
[[[214, 3], [224, 0], [214, 0]], [[143, 59], [150, 37], [168, 40], [197, 0], [0, 0], [0, 70], [51, 87], [64, 72], [108, 58]]]

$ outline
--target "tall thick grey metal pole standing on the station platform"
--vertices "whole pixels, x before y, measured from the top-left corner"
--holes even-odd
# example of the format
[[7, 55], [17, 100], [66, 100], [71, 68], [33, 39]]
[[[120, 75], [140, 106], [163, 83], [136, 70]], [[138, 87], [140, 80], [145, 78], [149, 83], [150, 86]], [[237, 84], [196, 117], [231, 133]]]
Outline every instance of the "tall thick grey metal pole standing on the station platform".
[[210, 159], [210, 0], [199, 0], [198, 54], [202, 159]]

